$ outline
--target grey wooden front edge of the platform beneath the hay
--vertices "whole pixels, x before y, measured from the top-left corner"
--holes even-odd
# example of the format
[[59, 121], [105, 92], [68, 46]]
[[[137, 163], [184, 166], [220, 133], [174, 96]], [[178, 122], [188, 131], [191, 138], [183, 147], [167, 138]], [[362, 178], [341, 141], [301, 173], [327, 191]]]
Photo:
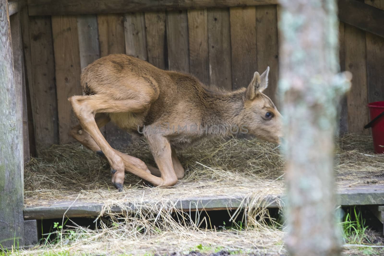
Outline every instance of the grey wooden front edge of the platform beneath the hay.
[[[343, 187], [338, 190], [338, 205], [384, 205], [384, 185], [372, 184], [359, 187]], [[246, 207], [246, 196], [209, 196], [191, 197], [187, 199], [169, 200], [168, 204], [177, 210], [196, 211], [196, 210], [223, 210], [237, 209]], [[259, 204], [262, 207], [278, 208], [281, 207], [284, 199], [281, 195], [268, 195], [261, 199]], [[153, 208], [153, 200], [143, 201], [142, 208]], [[45, 202], [43, 206], [24, 208], [25, 220], [38, 220], [50, 218], [67, 217], [96, 217], [103, 208], [103, 203], [89, 202]], [[135, 210], [137, 207], [126, 202], [126, 209]], [[125, 210], [126, 210], [125, 209]], [[113, 213], [122, 212], [121, 207], [114, 206]]]

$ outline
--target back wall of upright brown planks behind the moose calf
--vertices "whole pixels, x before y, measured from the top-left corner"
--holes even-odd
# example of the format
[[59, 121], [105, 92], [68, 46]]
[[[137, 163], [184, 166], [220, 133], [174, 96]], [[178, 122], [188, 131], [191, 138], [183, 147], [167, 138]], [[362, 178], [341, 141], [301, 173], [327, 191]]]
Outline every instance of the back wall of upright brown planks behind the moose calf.
[[[382, 0], [366, 0], [384, 8]], [[279, 107], [279, 37], [276, 5], [136, 13], [22, 15], [23, 43], [37, 145], [70, 143], [76, 125], [67, 98], [81, 94], [81, 69], [112, 53], [126, 53], [162, 69], [189, 72], [205, 84], [247, 86], [270, 66], [266, 94]], [[340, 24], [340, 66], [353, 73], [342, 101], [341, 130], [367, 133], [368, 102], [384, 100], [384, 39]], [[316, 61], [316, 60], [314, 60]], [[112, 146], [129, 135], [102, 129]]]

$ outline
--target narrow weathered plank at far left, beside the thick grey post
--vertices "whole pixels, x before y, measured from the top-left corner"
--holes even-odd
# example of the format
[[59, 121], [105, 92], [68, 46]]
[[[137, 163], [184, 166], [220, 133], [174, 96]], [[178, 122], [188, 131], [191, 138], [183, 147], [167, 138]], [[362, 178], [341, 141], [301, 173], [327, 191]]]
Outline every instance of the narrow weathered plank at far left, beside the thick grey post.
[[13, 52], [13, 71], [15, 76], [16, 95], [17, 95], [17, 111], [22, 113], [23, 121], [20, 125], [20, 137], [23, 140], [24, 162], [29, 161], [29, 137], [28, 137], [28, 116], [26, 112], [25, 98], [25, 75], [24, 75], [24, 57], [21, 31], [21, 15], [15, 13], [10, 17], [11, 35], [12, 35], [12, 52]]

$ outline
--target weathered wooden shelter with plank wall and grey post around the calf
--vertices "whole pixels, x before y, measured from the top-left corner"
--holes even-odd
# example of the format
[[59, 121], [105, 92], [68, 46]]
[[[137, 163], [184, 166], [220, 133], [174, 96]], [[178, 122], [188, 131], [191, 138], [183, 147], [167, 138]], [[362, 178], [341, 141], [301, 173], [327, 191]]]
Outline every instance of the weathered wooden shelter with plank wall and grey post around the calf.
[[[384, 0], [339, 0], [338, 7], [340, 67], [353, 73], [340, 130], [369, 133], [366, 105], [384, 100]], [[81, 69], [125, 53], [237, 89], [270, 66], [265, 94], [279, 108], [279, 15], [277, 0], [0, 0], [0, 241], [36, 243], [35, 220], [62, 216], [69, 206], [23, 209], [22, 159], [34, 156], [36, 147], [73, 141], [69, 131], [77, 120], [67, 98], [82, 93]], [[102, 132], [116, 148], [129, 142], [112, 124]], [[340, 195], [345, 205], [376, 207], [384, 205], [378, 189]], [[206, 209], [237, 205], [228, 198], [191, 200]], [[100, 207], [80, 203], [67, 214], [94, 216]]]

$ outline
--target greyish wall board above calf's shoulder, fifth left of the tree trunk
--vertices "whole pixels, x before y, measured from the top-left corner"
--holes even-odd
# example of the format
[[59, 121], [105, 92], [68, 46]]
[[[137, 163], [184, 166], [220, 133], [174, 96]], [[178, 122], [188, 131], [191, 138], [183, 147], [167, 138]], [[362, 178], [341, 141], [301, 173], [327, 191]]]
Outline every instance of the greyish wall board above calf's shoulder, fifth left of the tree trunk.
[[167, 12], [166, 26], [169, 69], [189, 73], [187, 11]]

